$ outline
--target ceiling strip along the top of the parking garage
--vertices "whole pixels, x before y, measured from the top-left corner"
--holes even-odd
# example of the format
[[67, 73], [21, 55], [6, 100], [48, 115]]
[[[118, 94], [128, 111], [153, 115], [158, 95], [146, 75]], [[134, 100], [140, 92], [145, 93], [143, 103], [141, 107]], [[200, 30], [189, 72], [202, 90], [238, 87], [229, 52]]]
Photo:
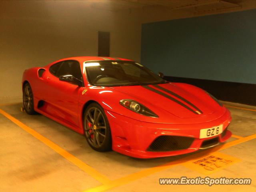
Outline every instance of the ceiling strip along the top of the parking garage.
[[222, 10], [255, 8], [256, 0], [87, 0], [93, 8], [122, 11], [142, 8], [162, 7], [169, 10], [187, 10], [194, 13], [219, 12]]

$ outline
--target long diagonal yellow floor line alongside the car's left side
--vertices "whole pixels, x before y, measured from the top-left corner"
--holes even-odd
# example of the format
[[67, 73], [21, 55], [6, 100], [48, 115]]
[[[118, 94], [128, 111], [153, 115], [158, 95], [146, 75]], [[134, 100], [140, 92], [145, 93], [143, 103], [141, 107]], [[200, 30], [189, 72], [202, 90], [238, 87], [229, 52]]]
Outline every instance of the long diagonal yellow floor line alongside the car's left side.
[[8, 113], [4, 112], [1, 109], [0, 109], [0, 113], [3, 116], [5, 116], [6, 118], [8, 118], [9, 120], [11, 120], [12, 122], [14, 122], [20, 128], [24, 129], [26, 132], [28, 132], [29, 134], [31, 134], [32, 136], [34, 136], [35, 138], [37, 138], [38, 140], [40, 140], [41, 142], [46, 144], [48, 147], [52, 148], [54, 151], [56, 151], [58, 154], [60, 154], [64, 158], [66, 158], [68, 161], [70, 161], [74, 165], [78, 166], [80, 169], [82, 169], [84, 172], [86, 172], [87, 174], [92, 176], [94, 179], [101, 182], [102, 184], [106, 184], [106, 183], [111, 181], [106, 176], [104, 176], [101, 173], [99, 173], [98, 171], [96, 171], [94, 168], [88, 166], [87, 164], [85, 164], [84, 162], [82, 162], [81, 160], [79, 160], [78, 158], [76, 158], [75, 156], [70, 154], [69, 152], [62, 149], [60, 146], [56, 145], [54, 142], [48, 140], [47, 138], [45, 138], [44, 136], [42, 136], [41, 134], [39, 134], [38, 132], [36, 132], [32, 128], [26, 126], [25, 124], [23, 124], [22, 122], [20, 122], [16, 118], [12, 117]]

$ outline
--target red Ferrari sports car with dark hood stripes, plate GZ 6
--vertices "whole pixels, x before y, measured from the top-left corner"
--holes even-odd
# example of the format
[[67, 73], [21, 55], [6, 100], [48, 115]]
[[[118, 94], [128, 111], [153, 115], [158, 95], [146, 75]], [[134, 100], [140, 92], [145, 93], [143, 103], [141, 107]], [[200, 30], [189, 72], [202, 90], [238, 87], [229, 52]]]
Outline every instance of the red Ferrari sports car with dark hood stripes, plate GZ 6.
[[136, 158], [194, 152], [230, 138], [230, 112], [214, 96], [160, 76], [128, 59], [65, 58], [24, 71], [23, 105], [84, 134], [94, 150]]

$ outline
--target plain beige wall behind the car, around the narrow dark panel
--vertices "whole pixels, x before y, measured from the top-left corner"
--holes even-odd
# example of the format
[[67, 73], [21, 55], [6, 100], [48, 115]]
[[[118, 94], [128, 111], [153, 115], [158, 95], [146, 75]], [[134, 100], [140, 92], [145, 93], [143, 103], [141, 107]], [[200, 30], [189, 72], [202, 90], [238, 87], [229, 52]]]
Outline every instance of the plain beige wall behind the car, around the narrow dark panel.
[[110, 32], [110, 56], [140, 61], [136, 14], [84, 1], [0, 1], [0, 102], [19, 101], [25, 69], [71, 56], [96, 56], [98, 31]]

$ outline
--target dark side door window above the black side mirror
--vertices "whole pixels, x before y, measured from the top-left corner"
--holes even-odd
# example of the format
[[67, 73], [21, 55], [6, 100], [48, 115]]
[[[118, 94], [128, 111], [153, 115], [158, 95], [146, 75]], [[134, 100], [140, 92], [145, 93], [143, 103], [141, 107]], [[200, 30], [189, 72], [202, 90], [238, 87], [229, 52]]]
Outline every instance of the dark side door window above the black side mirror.
[[56, 73], [56, 76], [59, 77], [62, 75], [73, 75], [75, 78], [81, 81], [83, 80], [80, 64], [75, 60], [68, 60], [62, 63]]

